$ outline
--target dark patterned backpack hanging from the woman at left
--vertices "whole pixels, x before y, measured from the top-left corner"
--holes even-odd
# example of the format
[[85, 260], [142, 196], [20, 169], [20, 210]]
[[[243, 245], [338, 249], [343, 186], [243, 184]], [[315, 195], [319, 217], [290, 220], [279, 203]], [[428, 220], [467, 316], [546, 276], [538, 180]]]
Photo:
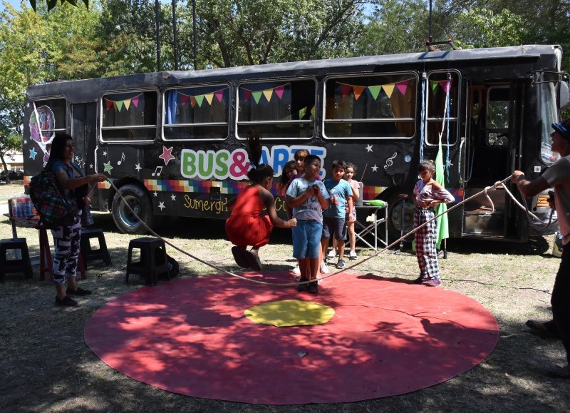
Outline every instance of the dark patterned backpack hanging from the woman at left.
[[76, 203], [59, 187], [56, 175], [42, 170], [30, 180], [30, 198], [46, 228], [56, 228], [67, 215], [78, 214]]

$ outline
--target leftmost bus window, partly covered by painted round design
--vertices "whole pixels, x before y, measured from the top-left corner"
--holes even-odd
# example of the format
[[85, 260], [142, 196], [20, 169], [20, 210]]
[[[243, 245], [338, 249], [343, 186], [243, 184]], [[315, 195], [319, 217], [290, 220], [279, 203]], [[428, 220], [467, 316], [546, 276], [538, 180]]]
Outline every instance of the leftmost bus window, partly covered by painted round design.
[[30, 116], [31, 138], [38, 143], [48, 143], [57, 132], [66, 131], [66, 100], [63, 98], [33, 101]]

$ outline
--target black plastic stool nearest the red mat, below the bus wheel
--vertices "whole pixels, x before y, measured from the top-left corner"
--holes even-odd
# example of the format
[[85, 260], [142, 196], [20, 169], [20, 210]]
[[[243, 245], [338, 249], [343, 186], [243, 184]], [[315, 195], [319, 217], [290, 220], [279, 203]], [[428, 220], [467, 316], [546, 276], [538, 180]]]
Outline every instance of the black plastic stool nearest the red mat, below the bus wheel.
[[[140, 261], [133, 262], [133, 249], [140, 249]], [[157, 275], [166, 274], [168, 277], [168, 260], [166, 246], [159, 238], [137, 238], [129, 243], [127, 256], [127, 275], [125, 282], [129, 282], [129, 274], [145, 276], [146, 285], [156, 285]], [[170, 277], [168, 277], [170, 280]]]

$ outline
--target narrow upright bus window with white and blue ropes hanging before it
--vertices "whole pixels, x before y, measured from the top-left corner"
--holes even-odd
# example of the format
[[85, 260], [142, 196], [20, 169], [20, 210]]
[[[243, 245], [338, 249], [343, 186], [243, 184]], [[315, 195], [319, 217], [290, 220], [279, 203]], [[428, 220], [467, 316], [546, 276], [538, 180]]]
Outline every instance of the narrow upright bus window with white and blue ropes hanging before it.
[[427, 76], [427, 145], [457, 142], [457, 113], [459, 110], [460, 79], [457, 72], [431, 72]]

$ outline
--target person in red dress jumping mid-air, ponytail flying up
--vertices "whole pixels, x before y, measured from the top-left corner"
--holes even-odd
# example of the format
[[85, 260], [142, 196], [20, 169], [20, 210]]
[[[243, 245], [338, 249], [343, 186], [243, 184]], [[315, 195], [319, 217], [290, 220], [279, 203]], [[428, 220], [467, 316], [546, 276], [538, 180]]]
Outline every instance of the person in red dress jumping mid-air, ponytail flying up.
[[[275, 199], [269, 190], [273, 184], [274, 170], [269, 165], [259, 165], [261, 159], [261, 139], [249, 133], [247, 139], [249, 161], [252, 169], [247, 173], [251, 185], [242, 190], [236, 198], [229, 200], [227, 208], [232, 215], [226, 220], [226, 233], [232, 244], [232, 254], [237, 265], [261, 270], [259, 248], [269, 243], [269, 235], [274, 225], [279, 228], [292, 228], [297, 225], [295, 218], [282, 220], [275, 210]], [[267, 215], [261, 215], [266, 209]], [[252, 250], [247, 250], [252, 245]]]

